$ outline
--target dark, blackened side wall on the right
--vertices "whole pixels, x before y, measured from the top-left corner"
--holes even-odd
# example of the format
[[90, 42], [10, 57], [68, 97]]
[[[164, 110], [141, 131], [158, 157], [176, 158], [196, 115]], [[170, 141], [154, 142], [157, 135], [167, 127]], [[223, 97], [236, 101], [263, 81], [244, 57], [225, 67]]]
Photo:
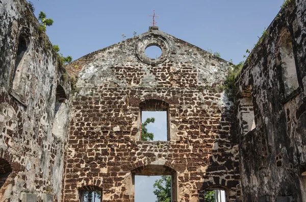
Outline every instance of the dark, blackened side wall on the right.
[[[259, 201], [261, 196], [269, 196], [269, 201], [285, 196], [306, 200], [305, 10], [305, 1], [291, 1], [279, 12], [237, 81], [244, 201]], [[243, 127], [248, 120], [240, 111], [246, 110], [246, 97], [252, 100], [254, 129]]]

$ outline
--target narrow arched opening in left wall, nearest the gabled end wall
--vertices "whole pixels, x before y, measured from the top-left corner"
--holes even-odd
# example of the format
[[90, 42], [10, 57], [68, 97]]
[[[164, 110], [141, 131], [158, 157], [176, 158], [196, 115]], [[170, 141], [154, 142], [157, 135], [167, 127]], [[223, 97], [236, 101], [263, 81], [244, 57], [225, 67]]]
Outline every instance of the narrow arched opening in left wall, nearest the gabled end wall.
[[56, 101], [52, 133], [59, 138], [63, 138], [66, 131], [66, 124], [68, 119], [68, 106], [66, 100], [67, 96], [64, 88], [61, 85], [58, 85], [56, 88]]

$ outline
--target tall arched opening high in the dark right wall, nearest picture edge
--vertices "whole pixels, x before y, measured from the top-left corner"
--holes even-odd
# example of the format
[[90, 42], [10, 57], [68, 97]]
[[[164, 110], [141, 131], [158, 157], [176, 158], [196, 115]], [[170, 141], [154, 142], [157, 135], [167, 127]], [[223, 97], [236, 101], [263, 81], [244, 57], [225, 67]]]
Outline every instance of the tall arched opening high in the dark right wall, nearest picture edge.
[[284, 28], [278, 41], [278, 64], [281, 65], [286, 97], [298, 88], [291, 34]]

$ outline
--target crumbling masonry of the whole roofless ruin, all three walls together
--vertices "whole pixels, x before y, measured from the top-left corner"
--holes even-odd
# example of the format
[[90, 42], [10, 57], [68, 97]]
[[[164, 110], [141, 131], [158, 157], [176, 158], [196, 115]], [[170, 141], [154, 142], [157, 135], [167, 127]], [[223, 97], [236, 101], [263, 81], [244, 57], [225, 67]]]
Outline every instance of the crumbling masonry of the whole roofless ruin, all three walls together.
[[[158, 27], [62, 67], [28, 4], [0, 1], [0, 201], [134, 201], [135, 175], [171, 175], [172, 201], [306, 201], [305, 11], [282, 8], [229, 98], [233, 64]], [[167, 141], [141, 140], [142, 110]]]

